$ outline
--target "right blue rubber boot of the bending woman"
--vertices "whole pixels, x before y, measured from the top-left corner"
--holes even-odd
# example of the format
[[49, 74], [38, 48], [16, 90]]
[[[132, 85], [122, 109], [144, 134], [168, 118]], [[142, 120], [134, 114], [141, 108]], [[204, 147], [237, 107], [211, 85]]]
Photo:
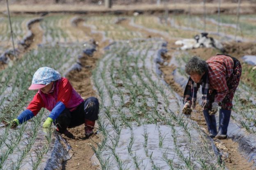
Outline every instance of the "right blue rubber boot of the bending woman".
[[229, 126], [231, 110], [219, 110], [219, 132], [216, 135], [217, 139], [226, 139]]

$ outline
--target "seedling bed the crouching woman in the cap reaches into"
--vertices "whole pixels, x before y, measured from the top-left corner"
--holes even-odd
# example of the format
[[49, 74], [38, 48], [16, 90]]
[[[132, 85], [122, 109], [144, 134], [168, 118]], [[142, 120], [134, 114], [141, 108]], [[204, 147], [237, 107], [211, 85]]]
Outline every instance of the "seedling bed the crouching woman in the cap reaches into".
[[[42, 46], [33, 50], [0, 72], [0, 120], [9, 122], [18, 116], [35, 91], [28, 91], [34, 72], [48, 66], [64, 73], [73, 55], [78, 56], [77, 48]], [[42, 109], [33, 119], [24, 122], [16, 129], [0, 127], [0, 169], [37, 169], [47, 161], [50, 145], [53, 145], [52, 129], [45, 133], [41, 128], [48, 113]], [[62, 154], [62, 153], [59, 153]]]

